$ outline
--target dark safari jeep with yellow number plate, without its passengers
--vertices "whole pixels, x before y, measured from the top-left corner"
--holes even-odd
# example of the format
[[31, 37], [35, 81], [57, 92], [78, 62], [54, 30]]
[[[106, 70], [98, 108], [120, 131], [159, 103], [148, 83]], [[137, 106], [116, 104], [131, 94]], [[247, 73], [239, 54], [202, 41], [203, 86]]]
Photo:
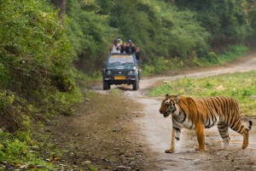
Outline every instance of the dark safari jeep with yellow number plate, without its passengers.
[[108, 54], [105, 68], [102, 70], [104, 90], [110, 89], [113, 84], [128, 84], [132, 85], [133, 90], [137, 90], [140, 77], [135, 54]]

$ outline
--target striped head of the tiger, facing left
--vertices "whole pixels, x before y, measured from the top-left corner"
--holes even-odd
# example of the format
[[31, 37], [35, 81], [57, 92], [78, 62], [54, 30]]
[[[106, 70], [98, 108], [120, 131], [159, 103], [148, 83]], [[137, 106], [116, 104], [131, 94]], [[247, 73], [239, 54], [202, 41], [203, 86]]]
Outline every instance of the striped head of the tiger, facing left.
[[160, 106], [160, 113], [164, 115], [164, 117], [168, 117], [170, 114], [178, 112], [177, 110], [177, 102], [179, 100], [179, 95], [169, 95], [166, 94], [165, 100], [162, 101]]

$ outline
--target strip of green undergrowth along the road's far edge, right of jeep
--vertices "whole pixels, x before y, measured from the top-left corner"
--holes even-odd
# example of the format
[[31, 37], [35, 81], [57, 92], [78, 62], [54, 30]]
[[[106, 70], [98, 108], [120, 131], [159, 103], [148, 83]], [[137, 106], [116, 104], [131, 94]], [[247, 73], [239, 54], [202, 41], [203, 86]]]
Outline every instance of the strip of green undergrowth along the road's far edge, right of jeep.
[[184, 60], [180, 57], [172, 57], [172, 59], [166, 59], [164, 57], [152, 57], [151, 65], [143, 63], [142, 76], [151, 76], [154, 74], [164, 73], [166, 71], [191, 67], [202, 66], [221, 66], [232, 60], [236, 60], [241, 56], [244, 56], [248, 52], [248, 48], [244, 45], [230, 45], [225, 48], [223, 52], [215, 54], [210, 52], [205, 56], [197, 56], [197, 54], [190, 54], [190, 56]]

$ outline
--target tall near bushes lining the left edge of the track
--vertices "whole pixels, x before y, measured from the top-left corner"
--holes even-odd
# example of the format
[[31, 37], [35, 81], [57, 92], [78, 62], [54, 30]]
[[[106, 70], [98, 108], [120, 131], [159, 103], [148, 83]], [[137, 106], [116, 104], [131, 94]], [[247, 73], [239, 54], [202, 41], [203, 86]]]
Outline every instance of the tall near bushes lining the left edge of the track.
[[76, 54], [51, 7], [33, 0], [1, 1], [0, 10], [0, 161], [40, 164], [44, 160], [29, 152], [30, 138], [19, 133], [51, 115], [72, 114], [83, 100], [76, 81], [81, 74], [73, 66]]

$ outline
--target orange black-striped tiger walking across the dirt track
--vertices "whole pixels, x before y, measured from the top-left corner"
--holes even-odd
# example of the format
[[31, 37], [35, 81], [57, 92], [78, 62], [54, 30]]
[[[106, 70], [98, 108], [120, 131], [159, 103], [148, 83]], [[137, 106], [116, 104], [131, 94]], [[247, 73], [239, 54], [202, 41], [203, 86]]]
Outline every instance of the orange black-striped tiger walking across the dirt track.
[[205, 128], [217, 124], [218, 132], [223, 139], [223, 148], [229, 146], [229, 127], [242, 134], [241, 149], [246, 149], [249, 141], [249, 130], [252, 121], [245, 127], [241, 121], [241, 109], [238, 102], [231, 97], [216, 96], [201, 99], [166, 94], [161, 102], [160, 114], [164, 117], [172, 115], [172, 143], [166, 153], [173, 153], [180, 140], [182, 128], [195, 130], [199, 147], [196, 151], [205, 151]]

